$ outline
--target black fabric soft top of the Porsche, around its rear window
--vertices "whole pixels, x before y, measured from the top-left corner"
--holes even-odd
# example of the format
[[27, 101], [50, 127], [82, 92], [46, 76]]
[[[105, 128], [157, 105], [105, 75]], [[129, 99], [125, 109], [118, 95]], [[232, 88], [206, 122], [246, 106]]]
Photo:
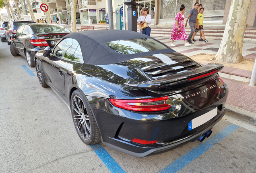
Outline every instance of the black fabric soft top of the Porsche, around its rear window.
[[134, 31], [127, 30], [90, 30], [90, 31], [80, 31], [73, 32], [63, 37], [73, 38], [78, 41], [81, 46], [83, 58], [85, 64], [94, 65], [106, 65], [115, 64], [132, 58], [138, 58], [142, 56], [147, 56], [151, 54], [175, 52], [171, 48], [164, 50], [156, 50], [152, 52], [142, 52], [137, 54], [119, 54], [111, 48], [109, 48], [106, 43], [116, 40], [129, 40], [134, 38], [152, 38], [145, 34], [140, 34]]

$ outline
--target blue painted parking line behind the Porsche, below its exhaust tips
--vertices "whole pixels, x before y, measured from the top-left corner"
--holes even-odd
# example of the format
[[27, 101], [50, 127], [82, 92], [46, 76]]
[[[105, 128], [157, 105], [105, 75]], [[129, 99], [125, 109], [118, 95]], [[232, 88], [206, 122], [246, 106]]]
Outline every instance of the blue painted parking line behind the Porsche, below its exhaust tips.
[[209, 150], [211, 147], [213, 147], [216, 143], [227, 137], [230, 133], [235, 131], [239, 126], [237, 125], [229, 125], [225, 129], [219, 131], [213, 137], [207, 139], [205, 142], [201, 143], [161, 171], [159, 173], [176, 173], [180, 171], [183, 167], [188, 165], [188, 163], [192, 162], [194, 159], [196, 159], [198, 156], [200, 156], [205, 151]]

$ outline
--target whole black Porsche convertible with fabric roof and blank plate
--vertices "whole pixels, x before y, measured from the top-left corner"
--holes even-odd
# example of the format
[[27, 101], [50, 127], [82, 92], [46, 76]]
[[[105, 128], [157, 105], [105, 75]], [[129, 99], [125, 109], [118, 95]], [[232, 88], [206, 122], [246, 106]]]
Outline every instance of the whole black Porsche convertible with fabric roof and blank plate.
[[35, 55], [42, 87], [71, 111], [81, 140], [136, 157], [203, 141], [225, 115], [222, 64], [202, 66], [145, 34], [68, 34]]

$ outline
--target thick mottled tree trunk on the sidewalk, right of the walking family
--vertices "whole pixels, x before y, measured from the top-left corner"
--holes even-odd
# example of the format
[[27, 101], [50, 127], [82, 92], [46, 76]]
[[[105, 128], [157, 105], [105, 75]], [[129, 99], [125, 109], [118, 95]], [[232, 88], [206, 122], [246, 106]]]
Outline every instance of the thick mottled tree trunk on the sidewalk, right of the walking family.
[[234, 64], [244, 60], [242, 56], [246, 20], [252, 0], [232, 0], [227, 24], [215, 60]]

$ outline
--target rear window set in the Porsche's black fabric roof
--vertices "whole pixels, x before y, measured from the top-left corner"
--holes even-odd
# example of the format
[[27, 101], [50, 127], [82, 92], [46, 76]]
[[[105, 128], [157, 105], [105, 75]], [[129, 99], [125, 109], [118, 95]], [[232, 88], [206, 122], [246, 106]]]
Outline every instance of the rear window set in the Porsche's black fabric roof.
[[107, 46], [120, 54], [136, 54], [140, 52], [149, 52], [168, 48], [163, 43], [152, 38], [116, 40], [107, 42]]

